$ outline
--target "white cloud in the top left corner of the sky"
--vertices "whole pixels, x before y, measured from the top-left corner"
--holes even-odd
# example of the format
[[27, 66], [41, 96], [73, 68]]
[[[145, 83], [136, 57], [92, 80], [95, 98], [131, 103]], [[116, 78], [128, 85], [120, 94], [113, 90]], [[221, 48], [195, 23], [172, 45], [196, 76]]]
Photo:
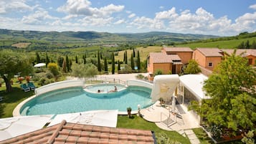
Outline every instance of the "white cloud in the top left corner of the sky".
[[1, 0], [0, 1], [0, 14], [6, 14], [11, 11], [32, 11], [34, 8], [26, 4], [24, 0]]

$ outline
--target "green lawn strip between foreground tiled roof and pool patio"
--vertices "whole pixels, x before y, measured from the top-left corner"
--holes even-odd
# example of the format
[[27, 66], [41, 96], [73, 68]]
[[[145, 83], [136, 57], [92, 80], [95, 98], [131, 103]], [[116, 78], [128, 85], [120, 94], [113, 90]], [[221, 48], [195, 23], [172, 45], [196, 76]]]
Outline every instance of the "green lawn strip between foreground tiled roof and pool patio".
[[182, 135], [176, 131], [161, 130], [156, 126], [155, 123], [150, 123], [144, 120], [142, 117], [133, 115], [132, 117], [127, 117], [126, 115], [118, 115], [118, 125], [117, 128], [131, 128], [139, 130], [152, 130], [156, 134], [156, 138], [160, 138], [163, 133], [165, 133], [169, 140], [176, 141], [179, 143], [190, 143], [188, 138], [184, 138]]

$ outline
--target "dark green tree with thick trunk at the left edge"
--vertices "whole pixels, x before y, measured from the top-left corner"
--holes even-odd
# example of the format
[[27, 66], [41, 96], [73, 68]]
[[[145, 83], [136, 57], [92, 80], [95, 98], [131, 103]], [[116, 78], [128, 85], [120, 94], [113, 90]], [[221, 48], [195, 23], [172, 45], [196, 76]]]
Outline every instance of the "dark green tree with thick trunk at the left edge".
[[11, 92], [11, 78], [20, 73], [20, 75], [29, 75], [33, 72], [32, 62], [29, 57], [22, 53], [11, 50], [0, 51], [0, 77], [6, 84], [6, 92]]

